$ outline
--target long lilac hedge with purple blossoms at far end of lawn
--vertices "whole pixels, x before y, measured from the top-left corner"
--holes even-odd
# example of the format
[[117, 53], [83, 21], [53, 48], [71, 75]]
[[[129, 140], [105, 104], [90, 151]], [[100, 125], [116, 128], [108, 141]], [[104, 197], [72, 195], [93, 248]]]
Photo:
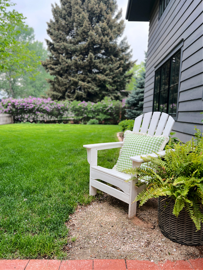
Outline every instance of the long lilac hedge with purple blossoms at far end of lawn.
[[52, 101], [51, 98], [7, 98], [0, 102], [0, 113], [14, 116], [15, 122], [51, 122], [74, 119], [87, 123], [97, 119], [100, 124], [117, 124], [125, 113], [125, 100], [105, 98], [93, 103], [86, 101]]

